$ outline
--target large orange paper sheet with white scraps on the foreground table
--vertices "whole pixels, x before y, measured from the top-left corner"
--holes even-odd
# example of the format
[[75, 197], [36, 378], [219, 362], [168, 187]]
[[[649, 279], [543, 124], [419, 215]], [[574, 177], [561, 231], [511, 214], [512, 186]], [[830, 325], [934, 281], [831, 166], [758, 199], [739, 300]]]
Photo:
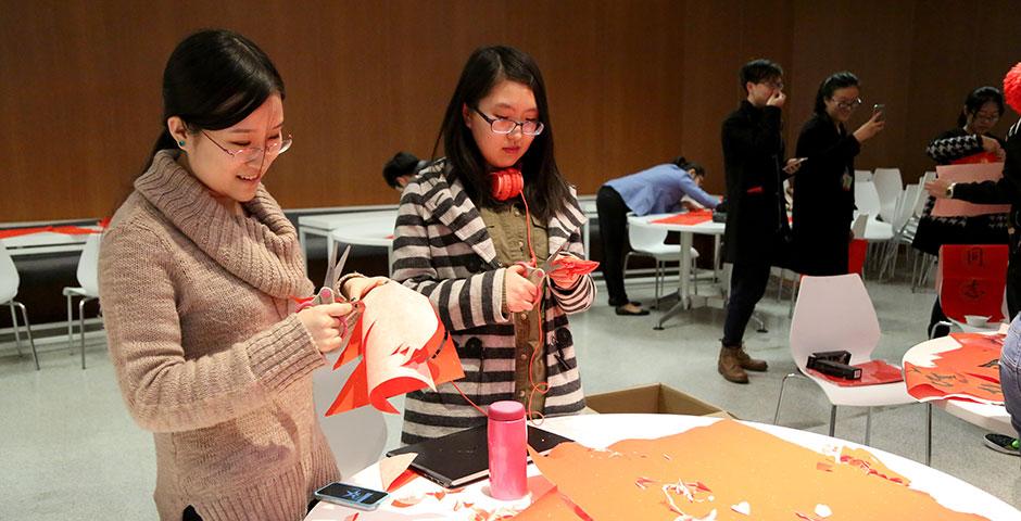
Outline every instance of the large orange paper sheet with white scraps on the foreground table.
[[985, 519], [909, 488], [867, 450], [827, 456], [731, 420], [532, 459], [592, 519]]

